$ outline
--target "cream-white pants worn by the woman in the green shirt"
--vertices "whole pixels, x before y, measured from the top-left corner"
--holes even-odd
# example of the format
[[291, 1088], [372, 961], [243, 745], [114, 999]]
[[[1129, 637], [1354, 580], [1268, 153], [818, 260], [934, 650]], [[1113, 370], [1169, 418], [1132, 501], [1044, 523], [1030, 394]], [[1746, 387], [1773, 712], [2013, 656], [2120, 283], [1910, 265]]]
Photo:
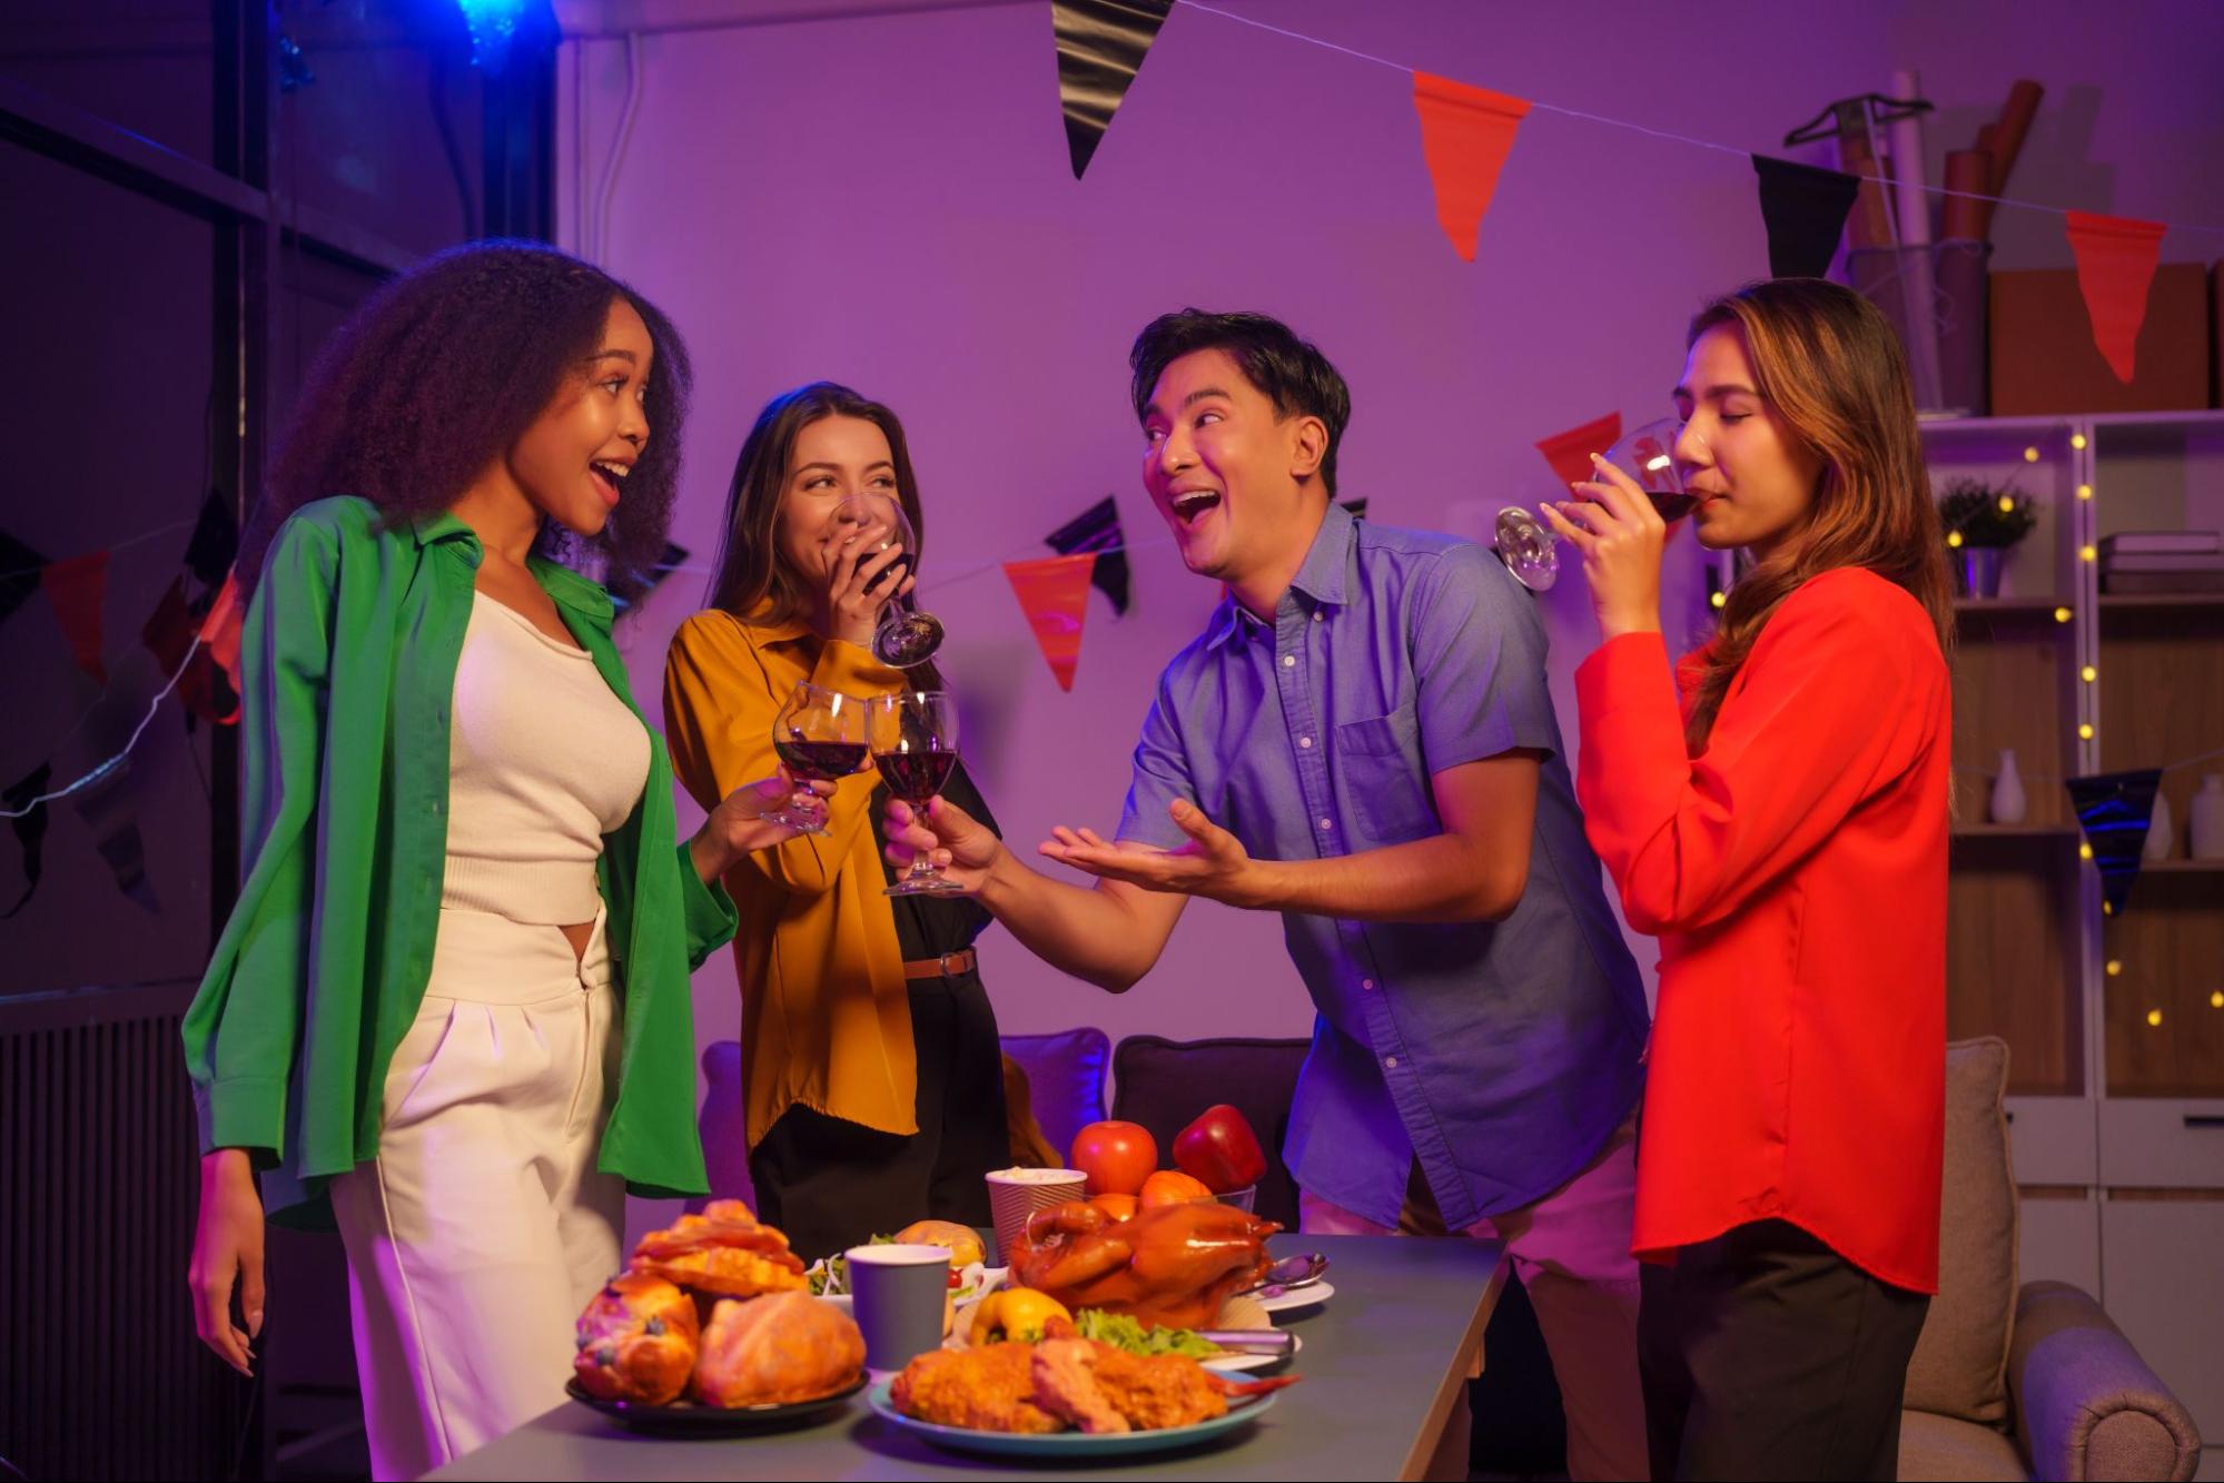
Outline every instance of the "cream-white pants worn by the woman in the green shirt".
[[331, 1185], [371, 1476], [416, 1479], [563, 1401], [578, 1312], [618, 1270], [596, 1174], [616, 1083], [609, 952], [440, 912], [378, 1158]]

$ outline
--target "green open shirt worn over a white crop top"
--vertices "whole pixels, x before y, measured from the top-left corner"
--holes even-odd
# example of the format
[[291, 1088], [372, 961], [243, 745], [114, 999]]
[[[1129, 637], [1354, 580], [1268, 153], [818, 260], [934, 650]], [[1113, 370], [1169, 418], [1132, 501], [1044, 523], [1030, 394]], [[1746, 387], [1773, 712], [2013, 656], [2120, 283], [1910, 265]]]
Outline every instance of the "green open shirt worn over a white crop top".
[[[367, 500], [318, 500], [278, 531], [247, 609], [247, 876], [185, 1014], [185, 1058], [202, 1149], [249, 1149], [282, 1223], [325, 1223], [325, 1183], [378, 1154], [387, 1067], [431, 976], [449, 714], [480, 556], [456, 516], [389, 527]], [[638, 716], [609, 594], [554, 563], [532, 569]], [[596, 874], [625, 1001], [598, 1167], [652, 1196], [707, 1187], [687, 974], [736, 923], [676, 834], [672, 763], [649, 731], [647, 787]]]

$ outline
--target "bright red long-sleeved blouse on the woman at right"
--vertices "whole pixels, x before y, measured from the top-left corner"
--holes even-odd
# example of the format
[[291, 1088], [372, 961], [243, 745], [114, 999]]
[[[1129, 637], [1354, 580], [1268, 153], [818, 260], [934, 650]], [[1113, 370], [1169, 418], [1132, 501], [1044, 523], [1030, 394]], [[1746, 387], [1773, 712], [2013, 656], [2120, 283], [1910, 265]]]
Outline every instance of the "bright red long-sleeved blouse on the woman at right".
[[[1577, 669], [1590, 843], [1661, 940], [1641, 1258], [1790, 1221], [1937, 1292], [1950, 687], [1924, 607], [1864, 569], [1777, 607], [1688, 756], [1659, 634]], [[1679, 703], [1677, 685], [1684, 696]]]

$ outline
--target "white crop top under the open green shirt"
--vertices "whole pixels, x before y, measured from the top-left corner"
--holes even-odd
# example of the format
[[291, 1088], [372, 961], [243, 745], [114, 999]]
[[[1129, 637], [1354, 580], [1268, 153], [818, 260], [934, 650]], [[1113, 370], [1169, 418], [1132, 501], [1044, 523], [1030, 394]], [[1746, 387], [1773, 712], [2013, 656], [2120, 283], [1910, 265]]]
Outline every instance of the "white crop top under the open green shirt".
[[649, 734], [587, 651], [483, 591], [456, 663], [447, 774], [440, 905], [594, 920], [594, 863], [649, 780]]

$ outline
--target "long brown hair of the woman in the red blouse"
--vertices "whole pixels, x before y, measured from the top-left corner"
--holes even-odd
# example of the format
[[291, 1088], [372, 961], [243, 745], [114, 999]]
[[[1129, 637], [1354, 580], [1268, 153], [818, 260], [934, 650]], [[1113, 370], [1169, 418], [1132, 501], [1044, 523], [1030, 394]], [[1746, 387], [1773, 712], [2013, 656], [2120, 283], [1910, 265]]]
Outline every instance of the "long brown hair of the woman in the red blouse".
[[1721, 627], [1699, 656], [1684, 731], [1692, 752], [1706, 745], [1730, 680], [1777, 605], [1824, 571], [1866, 567], [1906, 587], [1930, 614], [1939, 649], [1953, 647], [1946, 534], [1930, 502], [1915, 389], [1890, 320], [1835, 282], [1770, 278], [1699, 309], [1684, 347], [1719, 325], [1744, 336], [1755, 391], [1821, 458], [1821, 478], [1801, 527], [1730, 589]]

